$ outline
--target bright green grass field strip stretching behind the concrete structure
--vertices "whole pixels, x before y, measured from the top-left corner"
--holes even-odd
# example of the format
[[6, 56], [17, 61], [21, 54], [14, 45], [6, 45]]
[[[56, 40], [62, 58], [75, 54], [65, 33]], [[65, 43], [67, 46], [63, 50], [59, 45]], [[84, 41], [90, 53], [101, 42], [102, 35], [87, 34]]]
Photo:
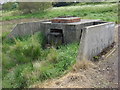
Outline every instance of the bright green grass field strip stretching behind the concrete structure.
[[4, 16], [3, 14], [2, 20], [4, 21], [4, 20], [22, 19], [22, 18], [50, 19], [57, 16], [73, 15], [86, 19], [102, 19], [105, 21], [113, 21], [118, 23], [117, 9], [118, 9], [118, 5], [116, 3], [54, 7], [42, 13], [38, 12], [38, 13], [26, 14], [26, 15], [16, 14], [16, 16], [13, 15]]

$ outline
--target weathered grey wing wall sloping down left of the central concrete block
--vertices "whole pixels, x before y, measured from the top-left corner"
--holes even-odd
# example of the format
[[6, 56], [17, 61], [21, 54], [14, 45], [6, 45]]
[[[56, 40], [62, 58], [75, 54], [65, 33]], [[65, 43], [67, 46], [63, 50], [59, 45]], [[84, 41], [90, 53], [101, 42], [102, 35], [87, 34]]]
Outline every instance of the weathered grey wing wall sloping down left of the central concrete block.
[[16, 37], [16, 36], [25, 36], [31, 35], [37, 31], [41, 31], [41, 21], [38, 22], [28, 22], [17, 24], [12, 32], [8, 35], [8, 38]]

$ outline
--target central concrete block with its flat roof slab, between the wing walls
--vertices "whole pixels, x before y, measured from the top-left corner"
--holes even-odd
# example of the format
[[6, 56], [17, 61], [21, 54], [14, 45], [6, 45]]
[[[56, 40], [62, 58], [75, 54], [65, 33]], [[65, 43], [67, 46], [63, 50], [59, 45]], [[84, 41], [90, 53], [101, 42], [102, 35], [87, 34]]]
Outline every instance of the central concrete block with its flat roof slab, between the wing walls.
[[51, 21], [46, 21], [41, 23], [41, 28], [43, 29], [46, 37], [50, 33], [51, 29], [61, 29], [63, 31], [64, 43], [79, 42], [81, 36], [81, 29], [86, 26], [91, 26], [94, 22], [101, 22], [101, 20], [90, 20], [81, 19], [80, 22], [73, 23], [52, 23]]

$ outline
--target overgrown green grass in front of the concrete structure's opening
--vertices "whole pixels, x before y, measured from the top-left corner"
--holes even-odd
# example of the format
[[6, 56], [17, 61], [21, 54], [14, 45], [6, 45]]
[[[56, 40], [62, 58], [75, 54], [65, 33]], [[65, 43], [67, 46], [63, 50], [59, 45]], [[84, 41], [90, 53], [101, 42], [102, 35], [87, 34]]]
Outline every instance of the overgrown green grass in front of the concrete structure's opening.
[[[6, 34], [4, 34], [5, 37]], [[44, 49], [44, 36], [3, 38], [2, 74], [4, 88], [24, 88], [64, 75], [76, 61], [79, 44]]]

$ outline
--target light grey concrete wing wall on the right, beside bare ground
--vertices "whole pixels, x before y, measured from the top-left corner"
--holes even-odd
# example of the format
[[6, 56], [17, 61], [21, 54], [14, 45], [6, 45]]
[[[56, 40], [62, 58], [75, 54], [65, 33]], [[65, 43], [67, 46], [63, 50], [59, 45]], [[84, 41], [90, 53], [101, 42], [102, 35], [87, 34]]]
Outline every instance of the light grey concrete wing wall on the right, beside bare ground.
[[77, 60], [91, 59], [114, 42], [112, 22], [88, 26], [83, 29]]

